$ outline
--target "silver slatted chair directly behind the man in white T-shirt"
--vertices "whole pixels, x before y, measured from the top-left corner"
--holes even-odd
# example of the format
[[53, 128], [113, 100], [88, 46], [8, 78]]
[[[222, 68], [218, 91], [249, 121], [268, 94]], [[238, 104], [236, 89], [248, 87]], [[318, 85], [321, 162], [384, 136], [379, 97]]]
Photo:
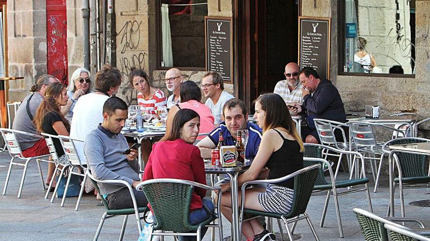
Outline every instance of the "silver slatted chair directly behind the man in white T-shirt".
[[[82, 161], [76, 152], [75, 142], [82, 142], [83, 143], [84, 140], [79, 140], [79, 139], [71, 138], [69, 136], [64, 136], [64, 135], [59, 135], [58, 138], [60, 139], [61, 146], [63, 147], [63, 150], [64, 150], [64, 154], [66, 155], [68, 162], [70, 164], [69, 176], [67, 178], [67, 183], [66, 183], [65, 188], [64, 188], [64, 195], [63, 195], [63, 199], [61, 200], [61, 206], [62, 207], [64, 206], [65, 195], [67, 194], [67, 189], [69, 187], [72, 175], [81, 176], [81, 177], [84, 177], [84, 179], [82, 180], [81, 190], [79, 191], [78, 200], [77, 200], [76, 206], [75, 206], [75, 211], [78, 211], [79, 204], [81, 203], [82, 195], [84, 194], [86, 177], [88, 176], [88, 168], [86, 167], [86, 164], [85, 165], [82, 164]], [[83, 170], [84, 174], [82, 174], [79, 171], [79, 168], [81, 168]], [[78, 171], [74, 171], [75, 169], [78, 169]], [[52, 201], [51, 201], [51, 203], [52, 203]]]

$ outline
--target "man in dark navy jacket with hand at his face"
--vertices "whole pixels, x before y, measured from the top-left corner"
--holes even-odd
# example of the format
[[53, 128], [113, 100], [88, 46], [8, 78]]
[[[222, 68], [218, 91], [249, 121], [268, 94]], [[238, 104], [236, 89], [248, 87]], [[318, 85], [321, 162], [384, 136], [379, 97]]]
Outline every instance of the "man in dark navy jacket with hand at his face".
[[306, 143], [318, 143], [314, 119], [346, 122], [344, 102], [331, 81], [322, 80], [313, 68], [301, 69], [299, 78], [303, 85], [303, 104], [295, 103], [290, 110], [297, 113], [307, 112], [307, 127], [301, 128], [301, 137]]

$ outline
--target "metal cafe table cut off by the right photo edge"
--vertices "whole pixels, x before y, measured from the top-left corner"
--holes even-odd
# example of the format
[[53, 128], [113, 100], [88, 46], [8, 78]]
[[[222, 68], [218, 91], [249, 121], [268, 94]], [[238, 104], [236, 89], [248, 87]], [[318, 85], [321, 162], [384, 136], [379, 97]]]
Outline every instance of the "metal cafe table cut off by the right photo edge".
[[390, 210], [391, 217], [394, 217], [394, 165], [392, 165], [392, 154], [393, 152], [405, 152], [413, 154], [421, 154], [430, 156], [430, 142], [406, 144], [406, 145], [390, 145], [388, 148], [391, 149], [390, 156], [388, 158], [388, 172], [389, 172], [389, 191], [390, 191]]

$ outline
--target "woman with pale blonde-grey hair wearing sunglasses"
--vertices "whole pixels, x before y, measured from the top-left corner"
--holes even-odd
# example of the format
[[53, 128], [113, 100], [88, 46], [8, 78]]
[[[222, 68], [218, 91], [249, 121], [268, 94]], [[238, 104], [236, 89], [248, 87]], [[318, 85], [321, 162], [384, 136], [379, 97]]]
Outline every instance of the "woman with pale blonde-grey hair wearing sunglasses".
[[70, 77], [69, 85], [67, 86], [67, 95], [69, 100], [67, 104], [61, 107], [65, 118], [71, 122], [73, 117], [73, 108], [79, 97], [91, 92], [91, 73], [85, 68], [76, 69]]

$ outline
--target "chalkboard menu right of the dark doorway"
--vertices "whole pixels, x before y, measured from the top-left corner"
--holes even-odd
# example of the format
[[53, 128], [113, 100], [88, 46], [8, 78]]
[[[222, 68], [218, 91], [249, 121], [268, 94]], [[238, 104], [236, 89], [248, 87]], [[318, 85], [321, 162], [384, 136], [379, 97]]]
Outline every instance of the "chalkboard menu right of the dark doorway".
[[330, 19], [299, 16], [299, 65], [330, 78]]

